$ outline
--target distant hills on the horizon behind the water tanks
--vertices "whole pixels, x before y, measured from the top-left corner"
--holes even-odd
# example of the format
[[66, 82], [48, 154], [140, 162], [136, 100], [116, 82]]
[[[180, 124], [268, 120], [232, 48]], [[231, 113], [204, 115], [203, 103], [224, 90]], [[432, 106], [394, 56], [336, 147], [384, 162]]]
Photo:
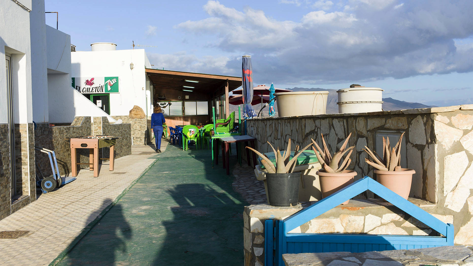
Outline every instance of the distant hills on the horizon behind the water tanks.
[[[337, 114], [338, 113], [338, 105], [337, 105], [337, 101], [338, 101], [338, 93], [337, 93], [337, 90], [335, 89], [322, 89], [322, 88], [298, 88], [298, 87], [295, 87], [295, 88], [287, 88], [287, 89], [290, 89], [292, 91], [328, 91], [329, 94], [328, 94], [328, 97], [327, 97], [327, 109], [326, 109], [326, 112], [327, 114]], [[385, 111], [392, 111], [392, 110], [403, 110], [403, 109], [415, 109], [415, 108], [429, 108], [429, 107], [434, 107], [434, 106], [428, 106], [428, 105], [424, 105], [424, 104], [421, 104], [421, 103], [411, 103], [411, 102], [405, 102], [405, 101], [400, 101], [400, 100], [396, 100], [396, 99], [393, 99], [393, 98], [383, 98], [383, 110]], [[274, 105], [275, 109], [276, 109], [276, 113], [277, 113], [277, 105], [275, 104]], [[242, 105], [242, 108], [243, 108], [243, 105]], [[256, 112], [259, 112], [259, 110], [261, 109], [261, 106], [260, 105], [255, 105], [253, 106], [254, 110]], [[230, 111], [238, 111], [238, 106], [234, 106], [234, 105], [230, 105]], [[268, 116], [268, 107], [265, 107], [262, 111], [263, 115], [265, 117]]]

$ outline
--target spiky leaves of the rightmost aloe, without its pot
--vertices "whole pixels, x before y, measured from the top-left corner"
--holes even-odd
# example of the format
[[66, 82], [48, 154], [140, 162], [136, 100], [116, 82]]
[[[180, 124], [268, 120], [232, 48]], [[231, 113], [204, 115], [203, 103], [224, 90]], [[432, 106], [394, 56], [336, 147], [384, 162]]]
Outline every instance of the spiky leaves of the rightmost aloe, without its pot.
[[369, 160], [365, 158], [365, 161], [381, 171], [401, 171], [401, 141], [403, 140], [403, 135], [404, 133], [401, 134], [399, 141], [392, 149], [389, 143], [389, 137], [386, 137], [386, 139], [383, 137], [383, 158], [379, 157], [376, 151], [373, 152], [365, 146], [366, 149], [363, 149], [363, 151], [366, 151], [373, 159]]

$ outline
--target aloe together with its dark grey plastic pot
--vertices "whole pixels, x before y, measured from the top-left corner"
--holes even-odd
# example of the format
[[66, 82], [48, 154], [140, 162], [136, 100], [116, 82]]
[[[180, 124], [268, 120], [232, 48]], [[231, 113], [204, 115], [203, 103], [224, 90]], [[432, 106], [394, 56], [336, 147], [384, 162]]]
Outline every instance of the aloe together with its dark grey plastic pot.
[[261, 157], [261, 163], [268, 171], [266, 173], [266, 182], [268, 184], [268, 199], [272, 206], [289, 206], [296, 204], [299, 196], [299, 179], [300, 172], [294, 172], [296, 161], [302, 151], [306, 150], [312, 145], [307, 145], [304, 149], [299, 151], [299, 145], [296, 145], [294, 156], [290, 158], [291, 154], [291, 139], [289, 139], [287, 149], [281, 154], [281, 151], [274, 149], [271, 143], [268, 142], [274, 152], [275, 164], [269, 160], [264, 154], [251, 147], [246, 147]]

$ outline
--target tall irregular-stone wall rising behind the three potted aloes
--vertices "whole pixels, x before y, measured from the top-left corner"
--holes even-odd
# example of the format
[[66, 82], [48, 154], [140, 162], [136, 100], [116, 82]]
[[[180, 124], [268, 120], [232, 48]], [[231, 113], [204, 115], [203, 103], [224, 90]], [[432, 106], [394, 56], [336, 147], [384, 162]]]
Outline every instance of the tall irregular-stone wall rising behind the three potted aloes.
[[[333, 114], [300, 117], [276, 117], [247, 120], [247, 132], [254, 136], [259, 151], [286, 147], [293, 143], [307, 145], [313, 138], [321, 142], [324, 134], [331, 152], [352, 133], [349, 145], [351, 169], [361, 178], [373, 177], [373, 169], [361, 149], [374, 149], [377, 131], [405, 132], [407, 165], [412, 177], [411, 196], [435, 203], [434, 213], [452, 215], [455, 243], [473, 244], [473, 106], [435, 107], [363, 114]], [[362, 195], [359, 198], [372, 195]]]

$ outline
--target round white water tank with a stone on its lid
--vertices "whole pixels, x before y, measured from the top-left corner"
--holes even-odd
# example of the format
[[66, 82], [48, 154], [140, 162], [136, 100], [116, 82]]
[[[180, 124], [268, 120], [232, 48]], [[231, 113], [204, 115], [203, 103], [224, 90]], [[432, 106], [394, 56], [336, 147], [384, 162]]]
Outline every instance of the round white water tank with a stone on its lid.
[[354, 87], [337, 90], [337, 93], [340, 114], [383, 111], [383, 89]]

